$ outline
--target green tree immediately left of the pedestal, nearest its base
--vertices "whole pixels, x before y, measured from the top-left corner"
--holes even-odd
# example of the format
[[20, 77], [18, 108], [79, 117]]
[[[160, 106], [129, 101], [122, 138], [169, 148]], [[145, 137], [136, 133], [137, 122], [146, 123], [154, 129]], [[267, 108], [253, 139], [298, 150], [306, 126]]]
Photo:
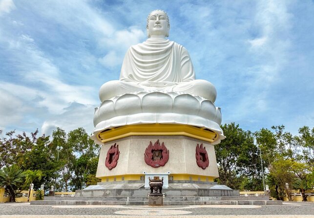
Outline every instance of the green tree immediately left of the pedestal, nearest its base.
[[[52, 134], [51, 148], [62, 146], [58, 162], [57, 187], [68, 190], [83, 189], [87, 184], [94, 183], [99, 145], [95, 145], [83, 128], [66, 134], [60, 128]], [[57, 154], [56, 154], [57, 155]], [[57, 188], [56, 187], [56, 188]]]

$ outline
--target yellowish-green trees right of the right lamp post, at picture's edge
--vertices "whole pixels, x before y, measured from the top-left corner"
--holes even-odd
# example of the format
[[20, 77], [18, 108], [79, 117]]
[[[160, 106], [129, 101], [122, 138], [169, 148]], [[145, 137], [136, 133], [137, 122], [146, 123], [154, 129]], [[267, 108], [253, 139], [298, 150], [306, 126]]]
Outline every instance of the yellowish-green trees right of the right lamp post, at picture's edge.
[[263, 159], [269, 174], [269, 185], [275, 189], [273, 196], [283, 199], [284, 192], [293, 200], [291, 190], [300, 191], [304, 201], [305, 191], [313, 187], [314, 129], [304, 126], [299, 135], [293, 136], [284, 126], [272, 126], [272, 131], [262, 129], [255, 132], [256, 142], [260, 143]]

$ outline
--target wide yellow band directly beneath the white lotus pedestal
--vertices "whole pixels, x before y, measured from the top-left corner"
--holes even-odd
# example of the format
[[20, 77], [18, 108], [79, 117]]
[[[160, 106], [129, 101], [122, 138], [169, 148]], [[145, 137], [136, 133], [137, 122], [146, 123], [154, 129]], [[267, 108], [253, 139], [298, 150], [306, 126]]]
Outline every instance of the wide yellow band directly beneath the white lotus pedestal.
[[116, 127], [100, 132], [97, 137], [103, 143], [133, 135], [184, 135], [191, 138], [213, 142], [217, 139], [214, 131], [177, 124], [142, 124]]

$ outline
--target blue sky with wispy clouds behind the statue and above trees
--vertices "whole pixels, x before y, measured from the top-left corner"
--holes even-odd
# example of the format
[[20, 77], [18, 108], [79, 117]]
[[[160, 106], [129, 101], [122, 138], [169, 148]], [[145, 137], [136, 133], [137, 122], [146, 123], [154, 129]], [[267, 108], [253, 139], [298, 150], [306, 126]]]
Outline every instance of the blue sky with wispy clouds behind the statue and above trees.
[[154, 9], [216, 87], [223, 123], [313, 128], [313, 0], [0, 0], [0, 130], [91, 133], [99, 88]]

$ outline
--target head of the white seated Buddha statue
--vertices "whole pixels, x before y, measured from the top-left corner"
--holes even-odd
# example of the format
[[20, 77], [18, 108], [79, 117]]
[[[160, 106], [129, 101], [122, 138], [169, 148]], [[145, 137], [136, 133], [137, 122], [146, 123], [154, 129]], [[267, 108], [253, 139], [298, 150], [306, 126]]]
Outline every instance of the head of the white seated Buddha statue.
[[165, 11], [154, 10], [147, 17], [147, 36], [169, 36], [170, 23]]

